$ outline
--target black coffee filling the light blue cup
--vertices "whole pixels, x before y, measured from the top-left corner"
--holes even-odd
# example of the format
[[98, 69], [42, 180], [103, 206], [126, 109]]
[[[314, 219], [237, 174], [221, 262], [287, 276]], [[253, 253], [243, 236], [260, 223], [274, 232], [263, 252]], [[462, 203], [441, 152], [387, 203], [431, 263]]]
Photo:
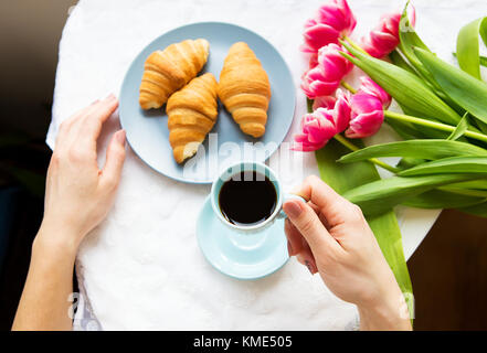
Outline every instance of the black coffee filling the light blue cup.
[[267, 220], [276, 208], [277, 193], [264, 174], [234, 174], [220, 190], [219, 204], [223, 216], [232, 224], [250, 226]]

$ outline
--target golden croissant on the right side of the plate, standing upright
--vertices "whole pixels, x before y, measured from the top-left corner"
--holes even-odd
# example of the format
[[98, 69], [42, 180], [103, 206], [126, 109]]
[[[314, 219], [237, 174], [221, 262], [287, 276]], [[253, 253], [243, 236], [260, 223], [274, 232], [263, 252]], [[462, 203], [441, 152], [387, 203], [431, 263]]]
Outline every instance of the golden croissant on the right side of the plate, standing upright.
[[243, 132], [253, 137], [264, 135], [271, 84], [246, 43], [230, 47], [220, 74], [219, 97]]

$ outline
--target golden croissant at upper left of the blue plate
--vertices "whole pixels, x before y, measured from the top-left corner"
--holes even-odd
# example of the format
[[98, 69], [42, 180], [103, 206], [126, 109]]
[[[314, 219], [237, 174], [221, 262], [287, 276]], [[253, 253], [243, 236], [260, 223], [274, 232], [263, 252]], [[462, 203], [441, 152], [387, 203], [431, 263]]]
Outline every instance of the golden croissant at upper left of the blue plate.
[[171, 94], [188, 84], [203, 68], [209, 49], [207, 40], [186, 40], [150, 54], [144, 65], [140, 107], [160, 108]]

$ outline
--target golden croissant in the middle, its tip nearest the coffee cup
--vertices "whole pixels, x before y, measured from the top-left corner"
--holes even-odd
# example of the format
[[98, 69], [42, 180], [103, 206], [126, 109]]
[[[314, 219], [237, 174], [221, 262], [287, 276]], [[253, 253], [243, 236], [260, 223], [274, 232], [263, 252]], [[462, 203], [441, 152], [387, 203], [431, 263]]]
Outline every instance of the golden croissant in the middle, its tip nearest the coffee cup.
[[193, 157], [213, 128], [218, 111], [218, 83], [210, 73], [192, 79], [168, 100], [169, 143], [178, 163]]

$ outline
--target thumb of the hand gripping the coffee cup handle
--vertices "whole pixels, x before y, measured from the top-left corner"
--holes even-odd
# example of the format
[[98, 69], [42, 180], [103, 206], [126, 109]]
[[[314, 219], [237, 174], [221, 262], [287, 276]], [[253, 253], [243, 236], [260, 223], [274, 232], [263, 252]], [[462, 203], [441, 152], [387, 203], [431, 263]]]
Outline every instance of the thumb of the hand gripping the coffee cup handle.
[[289, 221], [299, 231], [311, 250], [336, 249], [337, 240], [328, 233], [316, 212], [300, 200], [289, 200], [283, 205]]

